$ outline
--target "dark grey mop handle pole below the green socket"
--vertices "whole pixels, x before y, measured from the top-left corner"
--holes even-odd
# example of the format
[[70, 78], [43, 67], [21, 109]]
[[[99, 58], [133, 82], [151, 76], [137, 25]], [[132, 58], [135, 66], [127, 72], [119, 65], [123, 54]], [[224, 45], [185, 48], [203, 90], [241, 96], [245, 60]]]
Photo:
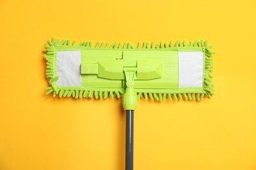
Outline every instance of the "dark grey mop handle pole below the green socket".
[[126, 110], [125, 170], [133, 170], [133, 112]]

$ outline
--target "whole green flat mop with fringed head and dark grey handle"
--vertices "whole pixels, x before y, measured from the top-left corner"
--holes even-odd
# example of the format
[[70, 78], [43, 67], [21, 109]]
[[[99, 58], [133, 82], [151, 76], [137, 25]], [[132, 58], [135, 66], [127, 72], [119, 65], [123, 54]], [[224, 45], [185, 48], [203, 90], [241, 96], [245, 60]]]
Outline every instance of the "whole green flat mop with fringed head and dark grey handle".
[[213, 95], [213, 61], [207, 41], [45, 44], [47, 93], [55, 97], [122, 97], [126, 110], [125, 169], [133, 169], [133, 112], [138, 99], [201, 101]]

